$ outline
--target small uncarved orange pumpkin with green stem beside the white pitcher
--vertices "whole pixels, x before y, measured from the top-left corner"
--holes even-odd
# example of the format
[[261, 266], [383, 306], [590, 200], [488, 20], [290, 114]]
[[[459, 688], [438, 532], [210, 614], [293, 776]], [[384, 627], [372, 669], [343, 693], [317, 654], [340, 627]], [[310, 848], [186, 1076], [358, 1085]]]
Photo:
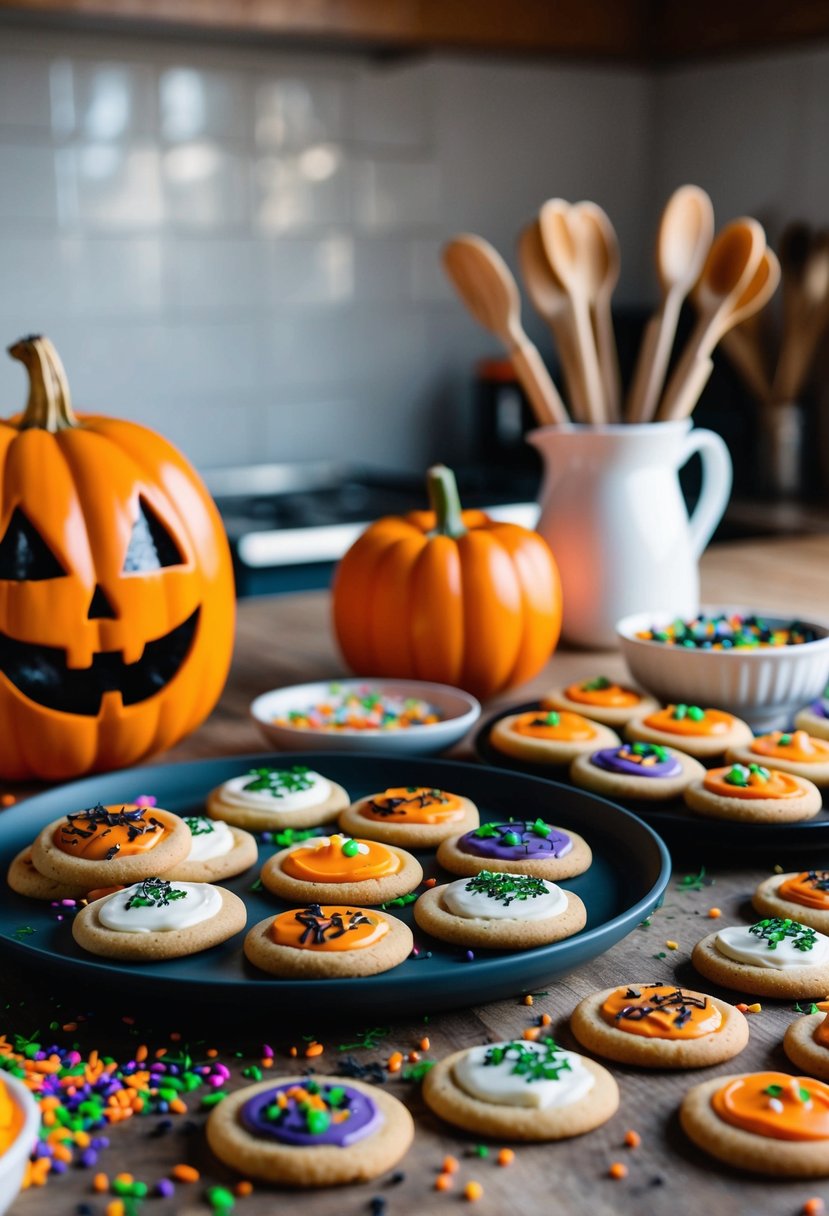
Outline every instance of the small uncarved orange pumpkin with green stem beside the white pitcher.
[[427, 474], [432, 511], [371, 524], [340, 562], [334, 631], [366, 676], [433, 680], [491, 697], [545, 665], [562, 589], [537, 533], [461, 511], [451, 469]]

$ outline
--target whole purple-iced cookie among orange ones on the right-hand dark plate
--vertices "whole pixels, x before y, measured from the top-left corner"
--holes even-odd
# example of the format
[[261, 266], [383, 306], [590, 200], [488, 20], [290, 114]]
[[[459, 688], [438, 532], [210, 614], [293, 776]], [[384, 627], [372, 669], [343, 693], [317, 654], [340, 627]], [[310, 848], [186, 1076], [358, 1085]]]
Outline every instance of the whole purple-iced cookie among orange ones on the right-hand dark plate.
[[582, 789], [649, 803], [678, 798], [692, 781], [701, 781], [704, 776], [705, 769], [693, 756], [642, 741], [600, 748], [570, 765], [570, 777]]

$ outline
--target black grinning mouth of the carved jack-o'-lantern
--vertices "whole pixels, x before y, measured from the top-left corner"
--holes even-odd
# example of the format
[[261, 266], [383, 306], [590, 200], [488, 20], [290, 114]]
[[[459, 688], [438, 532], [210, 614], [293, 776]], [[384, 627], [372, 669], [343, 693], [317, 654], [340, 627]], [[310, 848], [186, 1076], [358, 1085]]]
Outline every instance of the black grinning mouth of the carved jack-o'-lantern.
[[66, 651], [35, 646], [0, 634], [0, 671], [29, 700], [62, 714], [95, 716], [105, 693], [118, 692], [124, 705], [136, 705], [160, 692], [190, 653], [201, 609], [163, 637], [147, 642], [136, 663], [119, 651], [98, 651], [88, 668], [69, 668]]

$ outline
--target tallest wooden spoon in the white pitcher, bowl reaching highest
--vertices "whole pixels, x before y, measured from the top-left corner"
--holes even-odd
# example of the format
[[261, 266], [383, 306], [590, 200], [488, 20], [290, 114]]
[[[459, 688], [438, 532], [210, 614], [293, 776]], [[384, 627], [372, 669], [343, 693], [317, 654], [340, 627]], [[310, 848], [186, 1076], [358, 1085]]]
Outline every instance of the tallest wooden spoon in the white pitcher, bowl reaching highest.
[[699, 278], [714, 238], [714, 204], [699, 186], [679, 186], [669, 198], [656, 237], [662, 303], [642, 339], [627, 398], [628, 422], [650, 422], [671, 358], [679, 310]]

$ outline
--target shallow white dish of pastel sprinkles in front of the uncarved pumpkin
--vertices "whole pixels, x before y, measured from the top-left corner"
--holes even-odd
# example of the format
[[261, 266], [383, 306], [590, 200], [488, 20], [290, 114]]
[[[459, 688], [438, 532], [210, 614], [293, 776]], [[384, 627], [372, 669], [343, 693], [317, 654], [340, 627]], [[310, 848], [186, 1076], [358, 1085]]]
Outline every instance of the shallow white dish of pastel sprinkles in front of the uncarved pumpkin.
[[[389, 697], [416, 697], [433, 705], [441, 720], [405, 730], [314, 730], [284, 726], [276, 717], [303, 711], [331, 697], [332, 688], [371, 691]], [[320, 680], [272, 688], [250, 703], [250, 716], [265, 738], [281, 751], [374, 751], [377, 755], [436, 755], [458, 743], [480, 717], [480, 702], [461, 688], [423, 680]]]

